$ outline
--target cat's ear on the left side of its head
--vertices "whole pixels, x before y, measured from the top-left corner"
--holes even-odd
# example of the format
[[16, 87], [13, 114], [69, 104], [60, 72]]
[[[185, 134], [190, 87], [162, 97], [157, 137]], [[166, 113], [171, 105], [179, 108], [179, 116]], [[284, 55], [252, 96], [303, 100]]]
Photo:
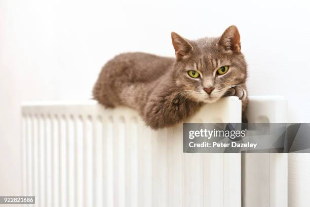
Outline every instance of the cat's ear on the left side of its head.
[[190, 43], [175, 32], [171, 32], [172, 45], [177, 59], [182, 59], [192, 50]]

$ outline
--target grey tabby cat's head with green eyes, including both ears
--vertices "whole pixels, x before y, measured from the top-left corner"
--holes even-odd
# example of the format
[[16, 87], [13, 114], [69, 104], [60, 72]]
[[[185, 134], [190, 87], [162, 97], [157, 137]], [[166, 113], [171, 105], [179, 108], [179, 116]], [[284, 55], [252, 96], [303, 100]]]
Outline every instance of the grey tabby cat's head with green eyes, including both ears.
[[212, 103], [229, 88], [245, 84], [247, 64], [241, 53], [240, 34], [229, 26], [219, 38], [190, 41], [172, 32], [176, 85], [184, 97]]

